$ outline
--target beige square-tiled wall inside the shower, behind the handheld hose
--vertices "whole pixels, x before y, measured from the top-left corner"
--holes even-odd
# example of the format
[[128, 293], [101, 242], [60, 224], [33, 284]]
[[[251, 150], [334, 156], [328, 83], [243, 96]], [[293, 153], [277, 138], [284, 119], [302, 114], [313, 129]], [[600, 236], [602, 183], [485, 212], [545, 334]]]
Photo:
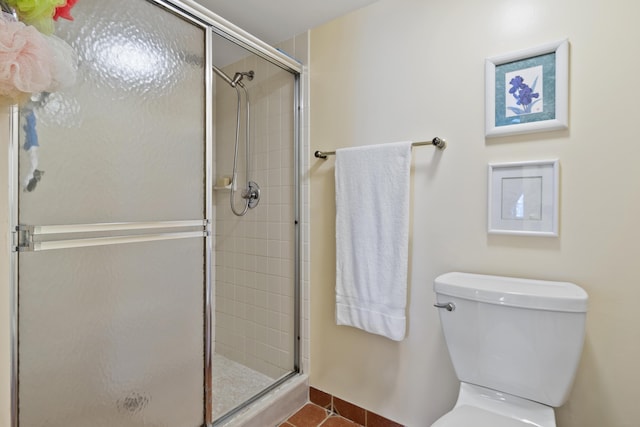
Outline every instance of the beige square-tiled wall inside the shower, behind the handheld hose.
[[[256, 75], [245, 80], [251, 100], [250, 179], [260, 186], [261, 198], [255, 209], [237, 217], [229, 190], [215, 190], [215, 351], [277, 378], [293, 368], [294, 79], [253, 55], [225, 67], [231, 76], [248, 70]], [[216, 180], [232, 174], [236, 96], [216, 79]], [[242, 140], [240, 147], [243, 164]], [[244, 168], [238, 177], [243, 185]], [[240, 191], [237, 209], [243, 206]]]

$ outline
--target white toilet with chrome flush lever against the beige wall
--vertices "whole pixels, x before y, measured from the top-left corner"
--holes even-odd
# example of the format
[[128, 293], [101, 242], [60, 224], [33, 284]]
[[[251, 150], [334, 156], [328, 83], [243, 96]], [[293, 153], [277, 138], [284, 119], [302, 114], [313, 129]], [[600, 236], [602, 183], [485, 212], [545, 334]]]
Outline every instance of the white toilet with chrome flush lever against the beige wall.
[[432, 427], [555, 427], [582, 353], [587, 293], [457, 272], [437, 277], [434, 291], [460, 391]]

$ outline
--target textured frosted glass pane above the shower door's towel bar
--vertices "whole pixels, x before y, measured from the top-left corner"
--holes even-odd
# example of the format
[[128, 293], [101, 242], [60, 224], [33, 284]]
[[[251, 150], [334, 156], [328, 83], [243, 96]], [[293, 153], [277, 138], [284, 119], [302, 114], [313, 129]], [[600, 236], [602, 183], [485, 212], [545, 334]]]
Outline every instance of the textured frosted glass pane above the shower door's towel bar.
[[20, 222], [202, 218], [203, 28], [144, 0], [82, 0], [73, 16], [56, 35], [78, 54], [77, 82], [27, 106], [44, 174], [28, 188], [20, 150]]

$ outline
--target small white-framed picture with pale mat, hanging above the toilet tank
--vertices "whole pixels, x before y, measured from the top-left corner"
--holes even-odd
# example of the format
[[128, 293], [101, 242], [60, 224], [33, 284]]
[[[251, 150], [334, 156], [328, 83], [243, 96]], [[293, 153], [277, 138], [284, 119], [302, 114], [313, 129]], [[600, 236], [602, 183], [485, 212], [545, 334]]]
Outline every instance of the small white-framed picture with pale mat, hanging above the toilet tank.
[[489, 164], [489, 233], [558, 236], [558, 160]]

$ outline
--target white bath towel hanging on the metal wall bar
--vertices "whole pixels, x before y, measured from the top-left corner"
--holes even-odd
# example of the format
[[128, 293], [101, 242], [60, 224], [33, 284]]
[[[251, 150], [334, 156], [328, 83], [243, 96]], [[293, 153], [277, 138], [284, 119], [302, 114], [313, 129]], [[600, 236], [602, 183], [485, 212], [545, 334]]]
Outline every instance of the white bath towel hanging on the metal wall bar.
[[336, 322], [406, 330], [411, 142], [336, 150]]

